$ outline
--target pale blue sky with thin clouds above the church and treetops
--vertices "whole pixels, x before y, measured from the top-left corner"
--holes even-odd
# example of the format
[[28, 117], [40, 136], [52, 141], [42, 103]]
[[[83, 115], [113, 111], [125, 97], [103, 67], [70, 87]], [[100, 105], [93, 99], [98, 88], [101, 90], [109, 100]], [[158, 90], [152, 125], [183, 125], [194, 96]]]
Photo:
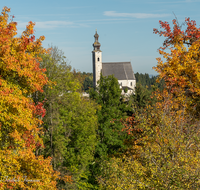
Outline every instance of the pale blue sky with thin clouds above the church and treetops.
[[156, 74], [157, 49], [163, 37], [153, 34], [159, 20], [172, 23], [173, 12], [200, 25], [200, 0], [6, 0], [19, 34], [29, 21], [35, 36], [45, 36], [44, 47], [57, 46], [70, 65], [92, 72], [92, 44], [97, 29], [103, 62], [131, 61], [134, 72]]

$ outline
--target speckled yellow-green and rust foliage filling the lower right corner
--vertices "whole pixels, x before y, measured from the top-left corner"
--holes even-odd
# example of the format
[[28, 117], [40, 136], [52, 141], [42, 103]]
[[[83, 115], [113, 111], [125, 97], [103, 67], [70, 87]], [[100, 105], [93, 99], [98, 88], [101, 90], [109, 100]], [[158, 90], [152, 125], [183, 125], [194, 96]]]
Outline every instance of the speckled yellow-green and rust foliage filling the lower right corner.
[[[169, 95], [169, 94], [166, 94]], [[122, 157], [103, 164], [98, 177], [105, 189], [198, 189], [199, 121], [174, 111], [165, 97], [143, 114], [127, 120], [125, 130], [133, 138]]]

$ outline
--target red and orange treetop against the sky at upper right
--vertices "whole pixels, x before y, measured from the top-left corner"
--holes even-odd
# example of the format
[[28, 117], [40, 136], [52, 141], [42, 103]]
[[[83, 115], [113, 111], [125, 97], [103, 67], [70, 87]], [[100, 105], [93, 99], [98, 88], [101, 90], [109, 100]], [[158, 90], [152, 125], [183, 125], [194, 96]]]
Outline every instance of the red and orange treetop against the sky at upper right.
[[[184, 25], [173, 20], [173, 29], [169, 23], [160, 21], [163, 30], [154, 29], [154, 33], [166, 37], [159, 53], [166, 59], [157, 58], [158, 65], [155, 70], [164, 79], [168, 90], [180, 102], [187, 101], [186, 109], [199, 115], [200, 95], [200, 28], [196, 22], [186, 18]], [[185, 30], [182, 29], [186, 27]], [[165, 51], [169, 49], [170, 52]]]

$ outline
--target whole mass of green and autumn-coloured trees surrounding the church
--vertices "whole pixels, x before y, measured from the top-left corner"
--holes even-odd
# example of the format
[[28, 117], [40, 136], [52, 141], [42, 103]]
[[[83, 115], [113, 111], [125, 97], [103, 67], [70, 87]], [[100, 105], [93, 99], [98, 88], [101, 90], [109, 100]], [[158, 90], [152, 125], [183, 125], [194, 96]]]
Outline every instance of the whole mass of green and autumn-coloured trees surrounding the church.
[[[0, 15], [0, 189], [200, 189], [200, 28], [160, 21], [157, 77], [135, 73], [129, 98], [114, 76], [73, 70], [17, 36]], [[82, 97], [87, 91], [90, 98]]]

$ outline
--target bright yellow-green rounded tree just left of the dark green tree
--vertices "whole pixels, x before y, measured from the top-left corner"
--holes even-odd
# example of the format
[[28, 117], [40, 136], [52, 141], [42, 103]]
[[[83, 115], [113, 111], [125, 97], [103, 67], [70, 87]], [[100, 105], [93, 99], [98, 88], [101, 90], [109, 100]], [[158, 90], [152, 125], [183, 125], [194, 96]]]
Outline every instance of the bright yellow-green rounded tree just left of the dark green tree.
[[67, 168], [76, 166], [80, 172], [93, 159], [96, 145], [96, 110], [92, 102], [82, 99], [79, 94], [71, 93], [67, 98], [68, 100], [65, 100], [63, 97], [60, 102], [62, 106], [59, 126], [66, 129], [63, 136], [67, 137], [68, 143], [64, 164]]

